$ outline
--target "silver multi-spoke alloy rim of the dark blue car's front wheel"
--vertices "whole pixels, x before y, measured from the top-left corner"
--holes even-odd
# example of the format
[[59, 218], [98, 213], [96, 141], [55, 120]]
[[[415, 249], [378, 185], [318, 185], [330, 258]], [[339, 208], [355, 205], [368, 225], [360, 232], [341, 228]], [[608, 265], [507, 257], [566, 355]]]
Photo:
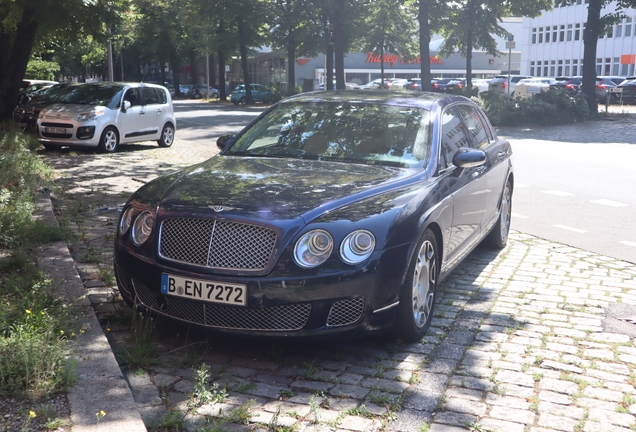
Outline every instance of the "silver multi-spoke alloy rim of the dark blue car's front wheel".
[[418, 328], [424, 327], [433, 307], [436, 273], [435, 249], [425, 240], [417, 254], [413, 274], [413, 321]]

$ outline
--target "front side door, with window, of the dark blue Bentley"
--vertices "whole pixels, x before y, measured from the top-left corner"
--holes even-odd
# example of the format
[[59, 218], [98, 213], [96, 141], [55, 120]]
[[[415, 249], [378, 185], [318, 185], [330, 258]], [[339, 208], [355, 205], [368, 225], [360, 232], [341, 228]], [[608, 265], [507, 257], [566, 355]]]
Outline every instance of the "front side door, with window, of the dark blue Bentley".
[[442, 190], [453, 198], [452, 221], [444, 244], [444, 257], [450, 262], [460, 258], [479, 235], [487, 186], [483, 166], [459, 168], [452, 162], [459, 149], [471, 147], [473, 142], [457, 108], [447, 107], [441, 119], [439, 180]]

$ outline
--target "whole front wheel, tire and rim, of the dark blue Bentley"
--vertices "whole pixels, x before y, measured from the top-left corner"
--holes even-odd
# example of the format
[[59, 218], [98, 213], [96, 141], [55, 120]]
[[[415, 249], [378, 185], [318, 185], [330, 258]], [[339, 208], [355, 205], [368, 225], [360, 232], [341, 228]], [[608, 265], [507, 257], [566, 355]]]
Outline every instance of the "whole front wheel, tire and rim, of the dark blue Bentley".
[[438, 250], [435, 234], [427, 229], [417, 242], [400, 288], [398, 315], [393, 324], [393, 334], [398, 339], [420, 340], [431, 325], [437, 297]]

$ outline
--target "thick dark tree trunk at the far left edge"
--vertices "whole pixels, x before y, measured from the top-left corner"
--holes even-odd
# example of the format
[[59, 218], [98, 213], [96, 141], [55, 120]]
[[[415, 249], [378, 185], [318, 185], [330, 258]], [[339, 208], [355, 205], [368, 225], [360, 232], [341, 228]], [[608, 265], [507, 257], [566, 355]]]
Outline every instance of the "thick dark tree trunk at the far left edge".
[[[11, 119], [20, 94], [38, 23], [33, 20], [35, 11], [27, 8], [18, 23], [13, 44], [10, 35], [0, 36], [0, 121]], [[8, 55], [7, 55], [8, 53]]]

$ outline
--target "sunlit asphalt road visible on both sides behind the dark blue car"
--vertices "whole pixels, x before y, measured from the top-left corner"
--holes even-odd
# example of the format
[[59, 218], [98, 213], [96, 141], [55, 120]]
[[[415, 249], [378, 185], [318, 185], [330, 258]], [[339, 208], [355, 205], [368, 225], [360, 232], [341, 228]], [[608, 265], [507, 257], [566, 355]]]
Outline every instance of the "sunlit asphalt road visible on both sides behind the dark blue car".
[[[178, 137], [238, 132], [265, 107], [177, 101]], [[616, 110], [616, 108], [615, 108]], [[619, 110], [621, 111], [621, 110]], [[636, 117], [502, 128], [513, 145], [512, 228], [636, 263]]]

